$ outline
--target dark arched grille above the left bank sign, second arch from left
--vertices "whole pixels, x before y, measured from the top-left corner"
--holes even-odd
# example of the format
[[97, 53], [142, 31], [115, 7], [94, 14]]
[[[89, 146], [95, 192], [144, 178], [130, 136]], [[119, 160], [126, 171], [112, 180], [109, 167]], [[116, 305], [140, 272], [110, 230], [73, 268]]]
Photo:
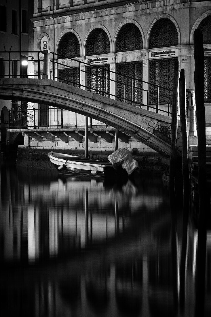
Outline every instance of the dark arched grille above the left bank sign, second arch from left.
[[93, 30], [86, 44], [86, 55], [110, 53], [110, 42], [107, 34], [102, 29]]

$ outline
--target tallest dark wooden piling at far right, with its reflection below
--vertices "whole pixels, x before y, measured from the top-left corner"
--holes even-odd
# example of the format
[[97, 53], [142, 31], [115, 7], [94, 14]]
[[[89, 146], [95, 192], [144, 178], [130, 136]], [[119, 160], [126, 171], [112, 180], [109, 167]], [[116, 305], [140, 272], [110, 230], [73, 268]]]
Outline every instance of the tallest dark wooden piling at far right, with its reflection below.
[[[194, 83], [196, 121], [198, 135], [198, 194], [199, 194], [199, 224], [198, 252], [196, 257], [196, 300], [195, 316], [204, 315], [205, 269], [206, 269], [206, 130], [204, 108], [204, 48], [203, 34], [200, 29], [194, 31]], [[210, 202], [209, 202], [210, 203]]]

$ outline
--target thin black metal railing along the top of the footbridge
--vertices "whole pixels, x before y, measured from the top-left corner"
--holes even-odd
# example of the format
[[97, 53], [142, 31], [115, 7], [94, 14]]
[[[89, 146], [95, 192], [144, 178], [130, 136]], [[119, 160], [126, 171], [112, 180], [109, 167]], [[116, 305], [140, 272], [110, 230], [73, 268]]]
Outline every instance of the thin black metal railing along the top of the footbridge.
[[[1, 69], [6, 70], [6, 73], [0, 74], [0, 77], [13, 77], [13, 78], [42, 78], [41, 70], [43, 68], [44, 55], [40, 51], [1, 51], [1, 55], [4, 54], [6, 59], [3, 60], [4, 67]], [[24, 55], [23, 55], [24, 54]], [[28, 72], [29, 67], [22, 66], [22, 59], [28, 60], [29, 63], [33, 63], [31, 73]], [[19, 63], [19, 68], [18, 68]], [[147, 110], [161, 112], [171, 116], [172, 99], [169, 94], [172, 93], [172, 89], [166, 87], [160, 87], [159, 85], [143, 81], [138, 78], [127, 76], [121, 73], [114, 72], [104, 67], [95, 66], [79, 59], [69, 58], [67, 56], [59, 55], [54, 52], [50, 52], [50, 73], [53, 80], [65, 82], [75, 87], [92, 91], [105, 97], [120, 100], [127, 104], [131, 104], [137, 107], [145, 107]], [[72, 64], [72, 65], [70, 65]], [[74, 65], [73, 65], [74, 64]], [[106, 66], [106, 65], [105, 65]], [[95, 74], [90, 72], [90, 69], [95, 70]], [[12, 72], [11, 72], [12, 69]], [[18, 73], [19, 69], [19, 73]], [[69, 70], [72, 72], [72, 79], [65, 79], [62, 76], [62, 71]], [[82, 76], [82, 74], [84, 74]], [[91, 83], [88, 83], [87, 78], [91, 76]], [[83, 77], [83, 78], [82, 78]], [[117, 80], [117, 77], [121, 77], [121, 81]], [[144, 88], [143, 88], [144, 85]], [[117, 87], [123, 94], [117, 93], [117, 89], [110, 89], [110, 87]], [[153, 90], [151, 89], [153, 87]], [[160, 90], [166, 91], [166, 94], [161, 94]], [[112, 91], [111, 91], [112, 90]], [[114, 92], [114, 93], [113, 93]], [[143, 103], [143, 93], [145, 94]], [[155, 104], [149, 104], [150, 94], [154, 94], [156, 97]], [[160, 104], [160, 99], [166, 100], [165, 103]], [[36, 109], [35, 109], [36, 110]], [[37, 109], [39, 111], [39, 109]], [[16, 114], [18, 109], [11, 110], [13, 115]], [[25, 113], [26, 114], [26, 113]], [[19, 117], [23, 118], [25, 115], [23, 109], [19, 113]], [[31, 114], [30, 114], [31, 115]], [[34, 114], [33, 114], [34, 115]], [[11, 114], [10, 114], [11, 118]], [[15, 122], [15, 119], [13, 120]], [[38, 125], [35, 125], [38, 126]], [[77, 120], [76, 124], [77, 125]]]

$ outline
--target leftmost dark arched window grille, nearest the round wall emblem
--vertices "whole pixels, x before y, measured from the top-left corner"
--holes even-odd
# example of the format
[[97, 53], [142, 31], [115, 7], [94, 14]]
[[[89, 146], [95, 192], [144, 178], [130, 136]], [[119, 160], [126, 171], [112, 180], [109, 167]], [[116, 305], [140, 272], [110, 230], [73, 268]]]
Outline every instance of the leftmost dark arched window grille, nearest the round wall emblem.
[[[69, 32], [62, 37], [59, 43], [58, 54], [70, 58], [80, 56], [80, 44], [73, 33]], [[58, 56], [58, 58], [62, 57]]]

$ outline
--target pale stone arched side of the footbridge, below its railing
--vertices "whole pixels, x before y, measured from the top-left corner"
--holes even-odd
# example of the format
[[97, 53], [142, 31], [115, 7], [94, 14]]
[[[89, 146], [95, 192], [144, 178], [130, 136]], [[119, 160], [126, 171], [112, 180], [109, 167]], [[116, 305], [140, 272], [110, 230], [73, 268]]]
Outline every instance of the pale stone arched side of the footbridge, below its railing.
[[[0, 79], [0, 99], [17, 99], [70, 110], [106, 123], [161, 155], [171, 152], [171, 118], [50, 79]], [[181, 154], [178, 126], [178, 155]]]

